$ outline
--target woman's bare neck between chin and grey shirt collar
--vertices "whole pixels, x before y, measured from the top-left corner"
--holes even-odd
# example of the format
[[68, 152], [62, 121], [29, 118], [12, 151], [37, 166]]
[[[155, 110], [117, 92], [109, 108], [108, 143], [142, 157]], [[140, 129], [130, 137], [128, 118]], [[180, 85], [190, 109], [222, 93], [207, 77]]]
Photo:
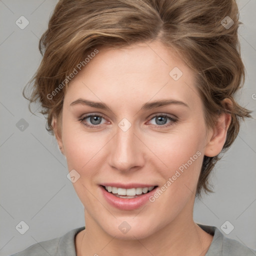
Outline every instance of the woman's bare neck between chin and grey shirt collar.
[[[96, 237], [96, 238], [95, 238]], [[86, 229], [77, 237], [77, 256], [87, 255], [200, 255], [204, 256], [212, 235], [192, 219], [192, 213], [179, 214], [157, 232], [142, 239], [118, 239], [104, 232], [87, 216]]]

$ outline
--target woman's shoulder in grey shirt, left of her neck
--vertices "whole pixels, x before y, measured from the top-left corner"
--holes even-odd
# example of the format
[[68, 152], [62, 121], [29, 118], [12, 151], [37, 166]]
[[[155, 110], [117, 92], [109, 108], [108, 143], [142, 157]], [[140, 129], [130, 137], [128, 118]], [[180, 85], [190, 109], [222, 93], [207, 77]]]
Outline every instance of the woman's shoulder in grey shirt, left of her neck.
[[34, 243], [24, 250], [11, 254], [10, 256], [76, 256], [75, 235], [85, 227], [72, 229], [60, 237]]

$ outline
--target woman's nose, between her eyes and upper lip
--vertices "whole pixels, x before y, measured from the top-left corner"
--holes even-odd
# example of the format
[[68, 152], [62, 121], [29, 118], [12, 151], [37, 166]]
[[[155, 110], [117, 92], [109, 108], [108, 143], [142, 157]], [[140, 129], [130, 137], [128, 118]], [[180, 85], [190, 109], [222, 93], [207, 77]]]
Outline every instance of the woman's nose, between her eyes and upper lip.
[[109, 147], [108, 163], [119, 171], [139, 169], [144, 165], [145, 146], [141, 138], [134, 133], [133, 126], [123, 131], [117, 127]]

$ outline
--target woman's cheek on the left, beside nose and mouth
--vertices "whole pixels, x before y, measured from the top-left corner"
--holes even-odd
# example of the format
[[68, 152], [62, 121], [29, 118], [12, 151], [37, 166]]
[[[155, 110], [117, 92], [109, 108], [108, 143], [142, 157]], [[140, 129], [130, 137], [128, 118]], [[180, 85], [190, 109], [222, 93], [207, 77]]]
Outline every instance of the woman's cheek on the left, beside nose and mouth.
[[[96, 133], [84, 132], [77, 129], [77, 123], [65, 122], [63, 118], [62, 142], [65, 148], [65, 157], [68, 171], [75, 170], [79, 178], [72, 183], [77, 196], [84, 205], [94, 205], [96, 209], [100, 206], [95, 198], [91, 196], [93, 177], [97, 174], [103, 162], [100, 159], [100, 149], [104, 146], [103, 137]], [[75, 173], [76, 173], [75, 172]]]

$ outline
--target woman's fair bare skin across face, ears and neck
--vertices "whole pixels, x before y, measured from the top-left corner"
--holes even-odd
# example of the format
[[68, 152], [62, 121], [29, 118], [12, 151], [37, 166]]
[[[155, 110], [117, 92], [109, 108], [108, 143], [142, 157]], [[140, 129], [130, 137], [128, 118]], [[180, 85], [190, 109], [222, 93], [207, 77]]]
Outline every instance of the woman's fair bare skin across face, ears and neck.
[[[176, 81], [169, 75], [174, 67], [183, 72]], [[86, 229], [75, 237], [78, 256], [206, 253], [212, 235], [193, 221], [196, 184], [203, 155], [220, 152], [231, 117], [221, 114], [215, 127], [206, 128], [194, 77], [173, 50], [153, 41], [100, 48], [68, 84], [61, 131], [55, 119], [53, 126], [68, 170], [80, 174], [73, 186], [84, 205]], [[70, 106], [78, 98], [104, 102], [109, 109]], [[146, 102], [170, 98], [187, 106], [169, 104], [140, 110]], [[103, 115], [100, 124], [93, 124], [90, 118], [78, 120], [90, 113]], [[163, 113], [177, 121], [166, 118], [159, 124], [153, 116]], [[124, 117], [131, 124], [125, 132], [118, 126]], [[200, 156], [154, 202], [136, 210], [121, 210], [101, 194], [98, 184], [103, 182], [160, 187], [197, 151]], [[123, 221], [131, 226], [125, 234], [118, 229]]]

